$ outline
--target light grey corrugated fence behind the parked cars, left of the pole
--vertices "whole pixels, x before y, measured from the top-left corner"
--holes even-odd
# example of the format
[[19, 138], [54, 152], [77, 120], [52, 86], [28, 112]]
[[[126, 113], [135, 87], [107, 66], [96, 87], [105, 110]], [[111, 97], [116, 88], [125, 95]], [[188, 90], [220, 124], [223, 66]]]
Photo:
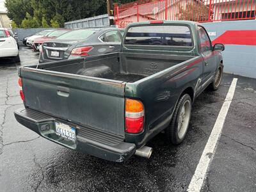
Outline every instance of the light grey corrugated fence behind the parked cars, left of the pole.
[[68, 29], [90, 28], [99, 26], [109, 26], [108, 14], [65, 22], [65, 28]]

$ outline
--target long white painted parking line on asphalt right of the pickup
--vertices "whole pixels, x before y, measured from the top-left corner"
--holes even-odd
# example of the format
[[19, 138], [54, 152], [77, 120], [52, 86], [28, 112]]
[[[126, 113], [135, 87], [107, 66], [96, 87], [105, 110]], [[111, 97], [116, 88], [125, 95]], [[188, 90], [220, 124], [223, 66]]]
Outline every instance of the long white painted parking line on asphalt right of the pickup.
[[205, 145], [204, 152], [200, 158], [200, 161], [196, 167], [195, 173], [191, 179], [191, 182], [188, 187], [188, 191], [198, 191], [199, 192], [200, 189], [202, 188], [209, 163], [211, 162], [212, 158], [214, 157], [216, 145], [220, 138], [223, 124], [225, 122], [225, 118], [227, 116], [228, 109], [230, 107], [230, 104], [231, 104], [233, 96], [234, 96], [234, 92], [236, 90], [236, 83], [237, 83], [237, 78], [234, 78], [230, 85], [230, 88], [228, 90], [225, 101], [223, 102], [223, 105], [220, 109], [220, 113], [216, 119], [216, 122], [215, 122], [214, 127], [211, 132], [211, 135], [209, 136], [209, 139]]

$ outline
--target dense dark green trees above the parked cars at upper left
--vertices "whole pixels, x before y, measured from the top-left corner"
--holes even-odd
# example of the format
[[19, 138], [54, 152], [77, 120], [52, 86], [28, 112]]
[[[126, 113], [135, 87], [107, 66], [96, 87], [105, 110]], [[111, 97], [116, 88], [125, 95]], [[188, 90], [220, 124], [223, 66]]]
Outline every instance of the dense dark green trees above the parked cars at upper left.
[[[130, 1], [132, 0], [118, 0], [118, 3]], [[60, 28], [64, 26], [64, 22], [70, 20], [107, 13], [106, 0], [6, 0], [5, 5], [8, 17], [17, 26], [24, 28]]]

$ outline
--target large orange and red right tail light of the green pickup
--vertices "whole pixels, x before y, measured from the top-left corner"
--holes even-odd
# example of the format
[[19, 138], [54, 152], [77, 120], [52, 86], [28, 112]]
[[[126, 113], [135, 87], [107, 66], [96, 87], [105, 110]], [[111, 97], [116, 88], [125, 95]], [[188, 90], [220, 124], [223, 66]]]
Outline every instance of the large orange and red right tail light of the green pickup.
[[144, 127], [144, 106], [139, 100], [125, 99], [125, 132], [139, 133]]

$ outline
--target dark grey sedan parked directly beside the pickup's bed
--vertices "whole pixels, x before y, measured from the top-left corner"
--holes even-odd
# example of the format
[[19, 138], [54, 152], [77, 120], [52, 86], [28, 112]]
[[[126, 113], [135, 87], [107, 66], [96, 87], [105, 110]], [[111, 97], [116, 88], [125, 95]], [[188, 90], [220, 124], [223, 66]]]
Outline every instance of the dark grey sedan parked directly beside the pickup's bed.
[[120, 51], [122, 29], [88, 28], [65, 33], [44, 42], [40, 49], [39, 62], [70, 60], [96, 54]]

